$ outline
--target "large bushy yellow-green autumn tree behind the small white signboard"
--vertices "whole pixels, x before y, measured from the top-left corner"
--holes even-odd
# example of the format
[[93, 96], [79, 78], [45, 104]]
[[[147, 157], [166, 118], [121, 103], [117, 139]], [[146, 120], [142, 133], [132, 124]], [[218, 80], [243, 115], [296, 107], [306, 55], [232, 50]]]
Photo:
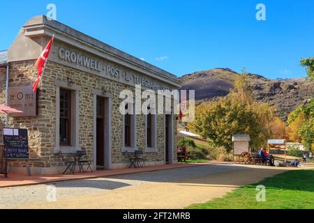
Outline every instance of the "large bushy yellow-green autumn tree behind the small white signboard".
[[232, 134], [250, 134], [251, 148], [257, 149], [269, 139], [273, 118], [274, 110], [257, 103], [246, 77], [239, 75], [227, 97], [196, 108], [195, 121], [189, 126], [212, 146], [224, 146], [227, 151], [232, 149]]

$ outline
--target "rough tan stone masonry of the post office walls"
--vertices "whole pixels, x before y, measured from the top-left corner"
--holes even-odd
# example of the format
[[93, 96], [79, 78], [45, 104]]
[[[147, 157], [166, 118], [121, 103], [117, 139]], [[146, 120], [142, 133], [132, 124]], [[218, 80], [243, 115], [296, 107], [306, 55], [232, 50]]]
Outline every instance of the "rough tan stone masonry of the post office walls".
[[[37, 71], [35, 61], [23, 61], [12, 63], [10, 67], [10, 86], [31, 85], [36, 79]], [[0, 74], [3, 70], [0, 70]], [[3, 78], [4, 75], [0, 75]], [[128, 160], [122, 155], [122, 115], [119, 112], [120, 91], [133, 87], [112, 82], [103, 77], [90, 75], [80, 70], [61, 66], [57, 63], [48, 62], [45, 73], [40, 83], [38, 101], [38, 116], [30, 118], [9, 118], [11, 128], [27, 128], [29, 130], [30, 164], [31, 167], [60, 167], [63, 162], [59, 156], [54, 155], [55, 145], [55, 106], [57, 79], [67, 82], [70, 77], [75, 85], [80, 86], [80, 148], [86, 150], [89, 157], [93, 158], [93, 95], [92, 89], [105, 89], [112, 94], [112, 163], [123, 163]], [[0, 104], [3, 98], [3, 80], [0, 79]], [[4, 82], [5, 83], [5, 82]], [[4, 85], [5, 89], [5, 85]], [[145, 145], [145, 122], [144, 115], [137, 115], [137, 148], [144, 150]], [[1, 125], [1, 121], [0, 121]], [[146, 160], [163, 162], [164, 159], [164, 116], [157, 116], [157, 153], [145, 153]], [[174, 145], [177, 143], [177, 118], [174, 116]], [[175, 146], [174, 146], [175, 147]], [[176, 159], [177, 152], [174, 151]], [[11, 162], [12, 167], [23, 167], [23, 162]]]

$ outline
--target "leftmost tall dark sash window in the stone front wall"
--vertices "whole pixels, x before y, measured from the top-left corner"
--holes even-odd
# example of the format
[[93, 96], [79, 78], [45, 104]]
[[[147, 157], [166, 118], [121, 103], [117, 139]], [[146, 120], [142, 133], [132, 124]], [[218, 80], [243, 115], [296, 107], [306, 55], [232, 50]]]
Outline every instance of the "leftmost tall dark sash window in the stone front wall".
[[60, 89], [60, 145], [70, 146], [71, 132], [71, 91]]

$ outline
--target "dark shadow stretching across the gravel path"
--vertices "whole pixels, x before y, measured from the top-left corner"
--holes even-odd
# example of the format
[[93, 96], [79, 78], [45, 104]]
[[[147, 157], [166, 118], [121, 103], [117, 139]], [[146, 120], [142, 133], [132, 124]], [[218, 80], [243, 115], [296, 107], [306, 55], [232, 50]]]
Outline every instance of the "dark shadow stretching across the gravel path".
[[[250, 167], [239, 165], [207, 164], [196, 167], [183, 167], [178, 169], [167, 169], [161, 171], [143, 172], [137, 174], [125, 174], [97, 178], [94, 180], [77, 180], [71, 183], [55, 183], [57, 187], [96, 187], [104, 190], [115, 190], [121, 187], [128, 187], [142, 181], [146, 183], [177, 183], [183, 190], [184, 187], [239, 187], [257, 183], [260, 179], [281, 174], [288, 169], [276, 167]], [[301, 171], [301, 170], [299, 170]], [[121, 181], [132, 180], [132, 184]], [[82, 183], [82, 181], [84, 183]], [[283, 185], [289, 187], [289, 185]], [[282, 189], [282, 188], [281, 188]], [[314, 188], [313, 188], [314, 190]]]

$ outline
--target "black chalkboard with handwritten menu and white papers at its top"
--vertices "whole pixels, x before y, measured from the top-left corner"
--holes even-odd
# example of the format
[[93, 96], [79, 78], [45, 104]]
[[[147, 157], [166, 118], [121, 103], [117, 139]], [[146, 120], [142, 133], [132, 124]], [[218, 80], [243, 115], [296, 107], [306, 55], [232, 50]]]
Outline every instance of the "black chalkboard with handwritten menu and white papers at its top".
[[3, 144], [8, 160], [29, 159], [29, 138], [27, 130], [3, 128]]

